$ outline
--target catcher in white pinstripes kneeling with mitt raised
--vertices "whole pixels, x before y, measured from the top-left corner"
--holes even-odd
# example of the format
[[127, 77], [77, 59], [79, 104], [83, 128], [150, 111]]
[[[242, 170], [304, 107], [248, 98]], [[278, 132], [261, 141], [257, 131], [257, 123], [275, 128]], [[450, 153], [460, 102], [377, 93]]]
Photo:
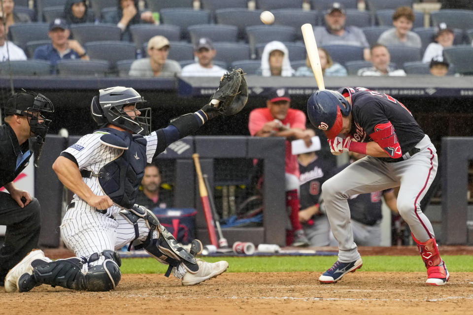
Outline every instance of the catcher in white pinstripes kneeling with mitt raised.
[[108, 291], [121, 278], [115, 249], [128, 243], [142, 247], [168, 264], [183, 285], [199, 284], [228, 268], [226, 261], [208, 263], [195, 257], [202, 243], [194, 240], [190, 252], [180, 247], [154, 214], [135, 204], [147, 162], [166, 147], [217, 115], [234, 115], [246, 104], [243, 71], [225, 74], [210, 102], [195, 113], [173, 120], [150, 133], [151, 108], [132, 88], [99, 90], [91, 112], [99, 129], [80, 138], [53, 164], [59, 180], [74, 192], [61, 224], [61, 236], [75, 257], [52, 261], [40, 250], [30, 252], [5, 278], [5, 290], [31, 290], [39, 284], [75, 290]]

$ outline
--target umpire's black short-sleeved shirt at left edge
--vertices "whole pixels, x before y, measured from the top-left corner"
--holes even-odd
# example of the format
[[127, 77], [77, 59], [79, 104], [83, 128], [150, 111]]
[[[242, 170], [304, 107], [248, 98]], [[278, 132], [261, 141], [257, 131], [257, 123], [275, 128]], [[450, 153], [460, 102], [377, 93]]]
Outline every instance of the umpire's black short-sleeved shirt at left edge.
[[15, 132], [7, 123], [0, 126], [0, 187], [13, 180], [30, 163], [30, 140], [21, 146]]

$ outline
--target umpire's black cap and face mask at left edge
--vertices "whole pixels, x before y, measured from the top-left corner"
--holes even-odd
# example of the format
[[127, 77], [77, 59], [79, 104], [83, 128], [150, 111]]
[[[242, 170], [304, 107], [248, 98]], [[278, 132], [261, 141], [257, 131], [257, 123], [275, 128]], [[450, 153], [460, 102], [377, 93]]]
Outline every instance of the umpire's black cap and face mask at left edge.
[[46, 137], [51, 120], [46, 119], [44, 113], [54, 112], [53, 103], [44, 95], [23, 90], [6, 101], [3, 106], [3, 115], [21, 115], [28, 117], [30, 130], [41, 141]]

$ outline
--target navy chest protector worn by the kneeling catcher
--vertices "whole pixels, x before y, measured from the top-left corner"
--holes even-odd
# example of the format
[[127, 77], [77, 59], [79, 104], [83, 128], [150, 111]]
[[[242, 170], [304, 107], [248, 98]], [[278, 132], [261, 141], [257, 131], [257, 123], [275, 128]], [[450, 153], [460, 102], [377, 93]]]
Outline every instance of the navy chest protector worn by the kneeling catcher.
[[138, 134], [112, 128], [102, 129], [102, 144], [122, 149], [122, 154], [99, 171], [99, 184], [103, 192], [117, 205], [130, 209], [136, 200], [146, 166], [146, 139]]

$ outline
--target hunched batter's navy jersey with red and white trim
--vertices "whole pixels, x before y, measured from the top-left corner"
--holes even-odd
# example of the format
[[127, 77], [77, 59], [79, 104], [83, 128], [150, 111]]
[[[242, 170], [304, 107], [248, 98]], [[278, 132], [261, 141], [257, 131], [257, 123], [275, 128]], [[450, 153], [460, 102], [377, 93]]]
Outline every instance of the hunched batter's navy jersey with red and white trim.
[[394, 97], [366, 88], [346, 87], [338, 92], [348, 93], [351, 98], [353, 126], [350, 133], [356, 141], [373, 141], [370, 135], [378, 129], [377, 126], [387, 123], [394, 127], [402, 154], [424, 137], [424, 131], [410, 111]]

